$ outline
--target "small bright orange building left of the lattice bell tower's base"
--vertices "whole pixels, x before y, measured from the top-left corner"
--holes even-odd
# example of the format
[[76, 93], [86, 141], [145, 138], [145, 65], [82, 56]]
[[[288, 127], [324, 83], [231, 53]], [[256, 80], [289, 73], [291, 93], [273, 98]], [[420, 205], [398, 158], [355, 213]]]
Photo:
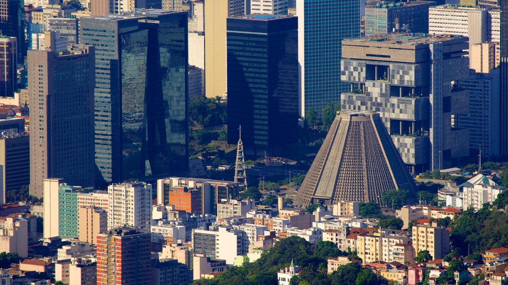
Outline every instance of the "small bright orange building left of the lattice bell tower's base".
[[174, 205], [176, 210], [188, 213], [201, 214], [201, 192], [194, 188], [173, 187], [169, 192], [169, 204]]

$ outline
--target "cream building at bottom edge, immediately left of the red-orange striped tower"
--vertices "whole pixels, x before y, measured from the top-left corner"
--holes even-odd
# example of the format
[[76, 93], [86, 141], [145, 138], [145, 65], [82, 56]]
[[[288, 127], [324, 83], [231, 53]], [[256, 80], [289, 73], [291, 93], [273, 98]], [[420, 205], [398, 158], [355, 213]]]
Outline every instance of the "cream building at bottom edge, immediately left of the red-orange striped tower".
[[69, 265], [69, 285], [96, 285], [97, 262], [88, 258], [73, 258]]

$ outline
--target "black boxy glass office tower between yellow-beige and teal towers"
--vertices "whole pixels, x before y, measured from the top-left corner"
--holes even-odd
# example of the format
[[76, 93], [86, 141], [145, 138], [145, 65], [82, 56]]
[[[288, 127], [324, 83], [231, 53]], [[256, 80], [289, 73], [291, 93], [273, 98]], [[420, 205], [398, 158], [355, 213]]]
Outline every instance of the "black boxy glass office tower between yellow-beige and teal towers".
[[228, 141], [238, 127], [246, 153], [277, 154], [298, 140], [296, 17], [228, 18]]

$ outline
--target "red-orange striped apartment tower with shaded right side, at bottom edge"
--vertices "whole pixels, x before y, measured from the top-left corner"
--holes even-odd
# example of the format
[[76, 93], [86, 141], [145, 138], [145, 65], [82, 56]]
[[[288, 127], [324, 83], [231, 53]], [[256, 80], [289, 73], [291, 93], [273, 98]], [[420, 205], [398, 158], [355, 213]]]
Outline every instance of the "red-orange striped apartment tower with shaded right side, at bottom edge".
[[97, 284], [151, 284], [150, 234], [129, 228], [97, 235]]

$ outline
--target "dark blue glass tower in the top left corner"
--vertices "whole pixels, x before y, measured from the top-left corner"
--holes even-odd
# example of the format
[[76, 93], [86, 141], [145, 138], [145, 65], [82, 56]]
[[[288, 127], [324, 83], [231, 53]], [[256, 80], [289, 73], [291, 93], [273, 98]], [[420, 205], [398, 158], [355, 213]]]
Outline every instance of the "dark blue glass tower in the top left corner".
[[26, 56], [25, 10], [23, 0], [0, 0], [0, 31], [18, 42], [18, 62]]

